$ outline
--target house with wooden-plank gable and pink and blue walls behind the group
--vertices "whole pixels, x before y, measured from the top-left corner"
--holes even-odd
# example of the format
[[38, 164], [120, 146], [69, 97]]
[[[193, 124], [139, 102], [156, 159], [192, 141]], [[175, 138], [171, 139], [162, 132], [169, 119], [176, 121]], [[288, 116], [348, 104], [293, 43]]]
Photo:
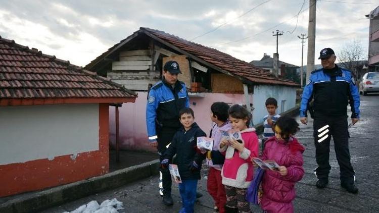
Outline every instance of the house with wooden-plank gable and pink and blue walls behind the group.
[[120, 130], [123, 147], [149, 149], [145, 124], [147, 94], [149, 87], [162, 78], [163, 65], [169, 60], [179, 63], [179, 80], [186, 84], [190, 107], [206, 132], [211, 128], [209, 108], [215, 101], [247, 105], [255, 124], [267, 114], [264, 102], [268, 97], [278, 100], [279, 112], [295, 107], [299, 84], [217, 49], [163, 31], [140, 28], [85, 66], [138, 91], [135, 104], [122, 109], [133, 112], [134, 117], [128, 119], [135, 121], [134, 126], [124, 125]]

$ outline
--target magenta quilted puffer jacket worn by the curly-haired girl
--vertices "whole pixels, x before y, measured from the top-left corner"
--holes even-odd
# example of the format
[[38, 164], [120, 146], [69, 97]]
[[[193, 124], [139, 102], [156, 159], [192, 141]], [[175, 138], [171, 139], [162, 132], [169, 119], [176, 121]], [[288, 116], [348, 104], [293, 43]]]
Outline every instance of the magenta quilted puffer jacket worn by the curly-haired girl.
[[303, 152], [304, 147], [296, 138], [286, 143], [273, 136], [265, 142], [262, 158], [272, 159], [279, 166], [287, 167], [288, 174], [281, 176], [278, 172], [266, 170], [262, 179], [262, 209], [275, 213], [294, 212], [295, 183], [304, 175]]

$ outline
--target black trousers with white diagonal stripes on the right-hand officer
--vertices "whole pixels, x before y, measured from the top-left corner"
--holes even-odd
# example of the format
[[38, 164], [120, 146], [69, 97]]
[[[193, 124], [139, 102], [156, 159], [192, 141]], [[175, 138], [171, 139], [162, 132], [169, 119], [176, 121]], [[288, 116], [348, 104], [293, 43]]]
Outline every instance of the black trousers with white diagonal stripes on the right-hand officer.
[[347, 116], [317, 117], [313, 120], [313, 129], [318, 165], [315, 169], [317, 178], [328, 178], [330, 171], [329, 146], [330, 138], [333, 136], [336, 157], [340, 165], [341, 182], [353, 183], [355, 172], [350, 162]]

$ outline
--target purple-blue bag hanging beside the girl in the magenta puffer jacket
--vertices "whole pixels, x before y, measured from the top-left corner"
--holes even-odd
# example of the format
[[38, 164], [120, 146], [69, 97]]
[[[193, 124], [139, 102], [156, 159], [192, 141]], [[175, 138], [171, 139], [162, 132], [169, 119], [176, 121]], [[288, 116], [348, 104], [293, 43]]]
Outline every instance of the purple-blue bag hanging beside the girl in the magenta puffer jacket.
[[262, 177], [264, 174], [264, 170], [258, 167], [257, 171], [255, 171], [254, 180], [250, 184], [248, 191], [246, 193], [246, 200], [248, 202], [253, 203], [254, 205], [259, 205], [262, 198]]

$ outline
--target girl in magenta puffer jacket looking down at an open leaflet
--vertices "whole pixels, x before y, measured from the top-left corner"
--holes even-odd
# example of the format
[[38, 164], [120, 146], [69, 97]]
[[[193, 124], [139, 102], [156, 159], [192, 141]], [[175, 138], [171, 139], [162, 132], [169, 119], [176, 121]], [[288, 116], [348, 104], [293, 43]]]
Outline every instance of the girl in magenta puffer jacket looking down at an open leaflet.
[[265, 170], [262, 177], [261, 207], [265, 212], [294, 212], [295, 184], [304, 175], [304, 147], [294, 137], [299, 130], [295, 119], [283, 116], [275, 123], [275, 136], [265, 142], [262, 160], [275, 161], [279, 171]]

